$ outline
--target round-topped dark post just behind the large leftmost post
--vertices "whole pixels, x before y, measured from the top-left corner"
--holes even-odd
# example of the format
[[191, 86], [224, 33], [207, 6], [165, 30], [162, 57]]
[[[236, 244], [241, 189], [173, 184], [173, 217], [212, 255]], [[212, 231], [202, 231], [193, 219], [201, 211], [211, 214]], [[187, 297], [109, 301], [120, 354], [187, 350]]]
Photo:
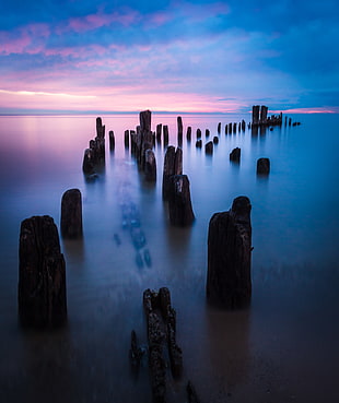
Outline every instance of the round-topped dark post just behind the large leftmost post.
[[82, 200], [79, 189], [69, 189], [62, 194], [60, 228], [63, 238], [82, 237]]

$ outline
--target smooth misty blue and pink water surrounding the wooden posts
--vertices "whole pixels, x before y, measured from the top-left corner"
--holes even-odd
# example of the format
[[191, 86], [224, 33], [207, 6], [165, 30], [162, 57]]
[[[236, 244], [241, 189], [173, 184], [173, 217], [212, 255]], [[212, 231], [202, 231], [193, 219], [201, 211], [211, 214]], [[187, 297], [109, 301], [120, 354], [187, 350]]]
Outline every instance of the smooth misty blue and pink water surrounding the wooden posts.
[[[338, 402], [339, 391], [339, 117], [292, 116], [299, 127], [225, 134], [229, 122], [250, 115], [183, 115], [184, 174], [196, 221], [176, 228], [162, 201], [164, 144], [155, 144], [157, 180], [144, 181], [124, 131], [139, 116], [103, 116], [106, 159], [98, 178], [82, 173], [96, 116], [0, 118], [0, 401], [152, 401], [147, 360], [139, 377], [128, 358], [130, 332], [147, 343], [142, 293], [167, 286], [177, 311], [184, 374], [167, 383], [168, 402], [186, 402], [190, 379], [201, 402]], [[210, 139], [222, 122], [212, 156], [196, 149], [196, 130]], [[177, 145], [175, 115], [168, 125]], [[192, 140], [186, 128], [192, 127]], [[109, 152], [108, 131], [116, 147]], [[230, 163], [239, 146], [239, 165]], [[269, 157], [271, 173], [256, 176]], [[23, 331], [17, 323], [20, 224], [33, 215], [60, 222], [62, 193], [83, 198], [83, 240], [65, 241], [68, 323], [58, 331]], [[206, 303], [207, 234], [213, 213], [237, 195], [252, 202], [253, 297], [246, 310]], [[122, 204], [140, 214], [152, 265], [139, 268]], [[115, 234], [120, 238], [116, 242]]]

